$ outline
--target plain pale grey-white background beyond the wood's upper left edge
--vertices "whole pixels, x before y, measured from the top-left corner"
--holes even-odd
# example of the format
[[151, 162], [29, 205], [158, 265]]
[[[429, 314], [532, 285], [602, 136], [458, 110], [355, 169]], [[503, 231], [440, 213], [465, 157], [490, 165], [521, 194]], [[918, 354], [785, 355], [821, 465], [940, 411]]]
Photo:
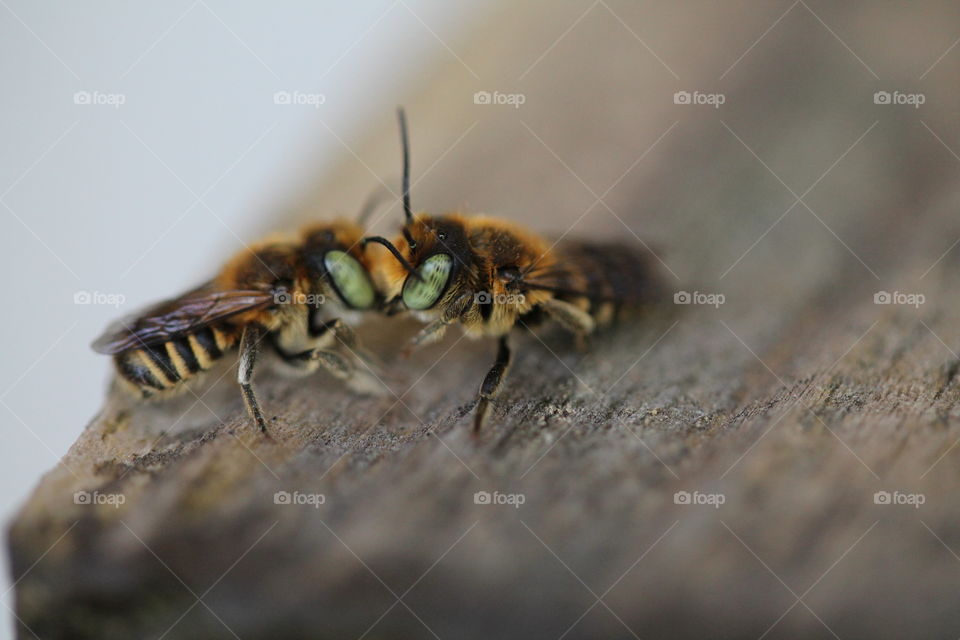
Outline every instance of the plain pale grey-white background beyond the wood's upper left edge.
[[[101, 404], [109, 363], [90, 341], [254, 240], [279, 203], [296, 202], [307, 171], [343, 155], [320, 121], [348, 137], [392, 118], [479, 10], [0, 0], [4, 522]], [[277, 105], [283, 90], [325, 102]], [[82, 91], [124, 104], [76, 104]], [[79, 291], [125, 302], [77, 305]], [[6, 562], [4, 551], [4, 591]]]

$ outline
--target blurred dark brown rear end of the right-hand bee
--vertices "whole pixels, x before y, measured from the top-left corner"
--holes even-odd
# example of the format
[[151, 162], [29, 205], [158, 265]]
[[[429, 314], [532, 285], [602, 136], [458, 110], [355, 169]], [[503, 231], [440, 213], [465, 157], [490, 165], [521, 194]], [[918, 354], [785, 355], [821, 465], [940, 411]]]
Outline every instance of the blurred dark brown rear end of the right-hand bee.
[[587, 300], [567, 294], [557, 297], [579, 303], [599, 324], [613, 320], [621, 309], [641, 307], [658, 298], [660, 279], [642, 247], [567, 242], [557, 248], [556, 256], [566, 271], [559, 286], [589, 294]]

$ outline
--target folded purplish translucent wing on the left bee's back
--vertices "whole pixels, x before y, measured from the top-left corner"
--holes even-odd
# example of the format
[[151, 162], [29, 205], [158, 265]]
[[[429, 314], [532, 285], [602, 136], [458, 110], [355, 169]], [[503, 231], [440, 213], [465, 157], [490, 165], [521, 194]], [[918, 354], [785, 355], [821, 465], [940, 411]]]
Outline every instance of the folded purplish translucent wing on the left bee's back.
[[216, 291], [204, 285], [114, 322], [92, 346], [98, 353], [114, 354], [159, 344], [217, 320], [271, 304], [274, 304], [274, 295], [269, 291]]

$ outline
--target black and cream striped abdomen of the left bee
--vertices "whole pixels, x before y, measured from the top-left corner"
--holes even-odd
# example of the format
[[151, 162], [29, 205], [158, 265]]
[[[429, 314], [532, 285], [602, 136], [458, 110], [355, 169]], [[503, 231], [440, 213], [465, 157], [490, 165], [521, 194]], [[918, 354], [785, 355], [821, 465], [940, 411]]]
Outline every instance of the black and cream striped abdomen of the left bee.
[[122, 380], [150, 396], [178, 388], [209, 369], [237, 340], [229, 328], [204, 327], [169, 342], [118, 353], [114, 363]]

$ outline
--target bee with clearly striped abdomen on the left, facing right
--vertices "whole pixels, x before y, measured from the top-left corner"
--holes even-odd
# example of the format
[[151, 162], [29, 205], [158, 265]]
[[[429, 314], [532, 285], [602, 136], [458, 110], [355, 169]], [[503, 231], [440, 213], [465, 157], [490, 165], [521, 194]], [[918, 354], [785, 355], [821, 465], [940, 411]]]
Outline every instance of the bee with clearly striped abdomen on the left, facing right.
[[267, 423], [252, 380], [262, 343], [290, 372], [323, 366], [337, 378], [357, 372], [332, 347], [361, 359], [350, 324], [382, 298], [363, 249], [363, 218], [315, 224], [299, 235], [268, 238], [235, 255], [209, 282], [119, 320], [93, 349], [113, 356], [119, 386], [139, 398], [172, 395], [228, 354], [239, 352], [244, 405], [263, 433]]

